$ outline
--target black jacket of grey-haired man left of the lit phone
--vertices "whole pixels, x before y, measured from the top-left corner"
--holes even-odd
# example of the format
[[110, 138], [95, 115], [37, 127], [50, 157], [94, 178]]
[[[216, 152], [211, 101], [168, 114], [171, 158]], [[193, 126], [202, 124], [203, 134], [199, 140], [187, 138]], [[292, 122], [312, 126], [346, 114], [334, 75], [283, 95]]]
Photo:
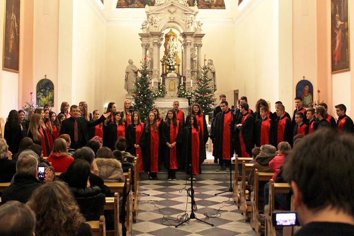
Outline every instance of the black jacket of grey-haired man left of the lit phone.
[[10, 184], [10, 186], [2, 192], [2, 204], [13, 200], [27, 203], [32, 192], [41, 185], [42, 183], [33, 175], [16, 174], [14, 183]]

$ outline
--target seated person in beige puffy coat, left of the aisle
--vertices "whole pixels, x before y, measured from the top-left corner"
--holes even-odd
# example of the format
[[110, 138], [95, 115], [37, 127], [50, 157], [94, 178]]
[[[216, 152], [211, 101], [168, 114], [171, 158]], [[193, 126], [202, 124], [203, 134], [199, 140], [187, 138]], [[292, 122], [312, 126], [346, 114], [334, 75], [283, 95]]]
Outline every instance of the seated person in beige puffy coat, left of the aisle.
[[114, 159], [110, 148], [103, 147], [97, 151], [96, 165], [98, 167], [98, 176], [105, 182], [124, 182], [125, 177], [121, 168], [121, 163]]

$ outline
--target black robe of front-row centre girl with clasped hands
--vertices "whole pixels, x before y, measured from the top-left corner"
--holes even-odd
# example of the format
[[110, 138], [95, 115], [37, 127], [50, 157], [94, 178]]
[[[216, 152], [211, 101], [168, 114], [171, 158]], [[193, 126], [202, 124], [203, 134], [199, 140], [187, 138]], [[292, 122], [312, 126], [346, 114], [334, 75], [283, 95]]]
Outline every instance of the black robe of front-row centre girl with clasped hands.
[[[173, 126], [173, 123], [170, 124]], [[177, 127], [176, 127], [177, 128]], [[177, 133], [177, 137], [176, 137], [176, 159], [177, 159], [177, 165], [178, 165], [178, 169], [180, 166], [180, 144], [182, 143], [182, 131], [183, 131], [183, 126], [181, 124], [181, 122], [179, 122], [178, 124], [178, 133]], [[162, 123], [162, 133], [161, 133], [161, 147], [164, 148], [164, 158], [163, 158], [163, 162], [164, 162], [164, 166], [166, 169], [170, 169], [170, 149], [166, 143], [171, 144], [170, 142], [170, 126], [166, 124], [166, 122]]]

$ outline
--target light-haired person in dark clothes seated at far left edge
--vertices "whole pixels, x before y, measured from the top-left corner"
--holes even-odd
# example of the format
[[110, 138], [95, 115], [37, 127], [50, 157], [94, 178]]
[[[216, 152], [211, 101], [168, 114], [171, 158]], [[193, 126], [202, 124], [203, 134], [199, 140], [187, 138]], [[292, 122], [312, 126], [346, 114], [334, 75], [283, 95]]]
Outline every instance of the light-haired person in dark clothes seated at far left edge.
[[16, 174], [16, 162], [11, 159], [6, 140], [0, 138], [0, 182], [10, 182]]

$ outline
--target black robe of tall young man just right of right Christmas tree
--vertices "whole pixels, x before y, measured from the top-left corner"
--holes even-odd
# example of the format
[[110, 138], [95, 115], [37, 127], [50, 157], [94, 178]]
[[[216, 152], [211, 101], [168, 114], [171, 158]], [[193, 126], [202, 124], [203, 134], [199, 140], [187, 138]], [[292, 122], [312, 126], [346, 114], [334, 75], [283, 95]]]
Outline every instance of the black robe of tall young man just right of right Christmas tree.
[[[231, 113], [231, 137], [230, 143], [224, 144], [223, 134], [224, 134], [224, 112], [220, 112], [216, 115], [214, 122], [211, 124], [210, 139], [213, 142], [213, 153], [212, 155], [219, 159], [219, 163], [223, 163], [223, 147], [224, 145], [230, 145], [230, 157], [234, 155], [234, 142], [233, 142], [233, 129], [235, 126], [236, 118], [235, 115], [229, 110], [227, 113]], [[204, 148], [205, 149], [205, 148]]]

